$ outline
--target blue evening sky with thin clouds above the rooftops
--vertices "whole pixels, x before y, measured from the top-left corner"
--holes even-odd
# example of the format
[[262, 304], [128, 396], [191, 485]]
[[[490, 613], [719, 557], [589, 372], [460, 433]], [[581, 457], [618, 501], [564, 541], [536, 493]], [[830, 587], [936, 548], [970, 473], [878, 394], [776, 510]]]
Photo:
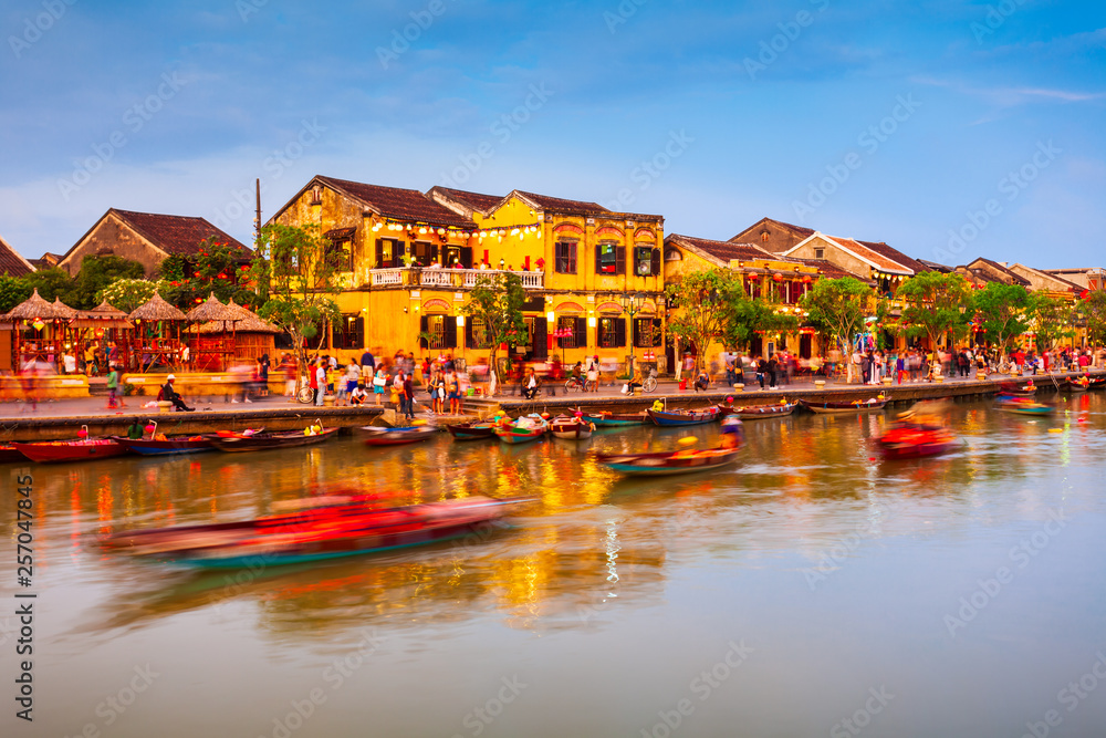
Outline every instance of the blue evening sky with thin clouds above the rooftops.
[[1106, 3], [0, 0], [0, 237], [316, 174], [1106, 266]]

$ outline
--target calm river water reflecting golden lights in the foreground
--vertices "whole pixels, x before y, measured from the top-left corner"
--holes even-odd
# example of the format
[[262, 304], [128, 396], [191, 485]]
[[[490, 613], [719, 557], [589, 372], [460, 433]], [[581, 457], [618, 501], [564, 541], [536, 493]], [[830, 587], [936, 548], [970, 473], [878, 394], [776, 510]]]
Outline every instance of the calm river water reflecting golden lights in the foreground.
[[[961, 450], [897, 464], [866, 446], [883, 415], [750, 422], [738, 468], [659, 481], [619, 480], [584, 450], [709, 443], [718, 428], [34, 467], [35, 720], [15, 720], [6, 694], [0, 725], [142, 738], [1103, 735], [1104, 401], [1061, 397], [1042, 420], [958, 404]], [[88, 545], [121, 524], [250, 518], [335, 480], [401, 501], [541, 500], [487, 538], [238, 575]], [[15, 619], [0, 627], [11, 693]]]

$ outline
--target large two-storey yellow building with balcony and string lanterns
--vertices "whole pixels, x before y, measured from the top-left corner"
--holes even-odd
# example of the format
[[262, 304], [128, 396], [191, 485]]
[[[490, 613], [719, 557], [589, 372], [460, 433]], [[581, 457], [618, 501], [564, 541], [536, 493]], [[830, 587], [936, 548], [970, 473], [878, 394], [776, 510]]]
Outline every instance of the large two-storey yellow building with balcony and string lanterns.
[[480, 326], [460, 309], [477, 280], [499, 271], [519, 274], [531, 295], [530, 341], [514, 356], [625, 364], [634, 351], [662, 360], [660, 216], [519, 190], [424, 195], [317, 176], [272, 220], [315, 224], [347, 254], [336, 300], [343, 319], [324, 343], [340, 361], [367, 345], [481, 363], [489, 352], [479, 347]]

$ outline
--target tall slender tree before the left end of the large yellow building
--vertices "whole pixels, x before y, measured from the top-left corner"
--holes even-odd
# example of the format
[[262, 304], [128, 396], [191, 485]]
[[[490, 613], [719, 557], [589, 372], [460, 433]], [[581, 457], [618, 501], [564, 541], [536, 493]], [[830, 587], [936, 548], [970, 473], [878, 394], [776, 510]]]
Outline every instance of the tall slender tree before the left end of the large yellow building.
[[299, 381], [307, 368], [306, 341], [317, 335], [326, 321], [341, 316], [331, 299], [342, 291], [333, 279], [338, 260], [328, 246], [316, 225], [270, 224], [261, 229], [250, 267], [260, 304], [258, 314], [291, 336]]

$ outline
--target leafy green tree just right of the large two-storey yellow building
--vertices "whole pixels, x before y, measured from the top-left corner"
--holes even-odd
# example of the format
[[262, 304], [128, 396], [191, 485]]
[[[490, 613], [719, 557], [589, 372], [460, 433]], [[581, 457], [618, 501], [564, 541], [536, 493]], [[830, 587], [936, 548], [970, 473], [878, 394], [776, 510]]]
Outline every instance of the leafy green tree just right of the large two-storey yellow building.
[[665, 288], [677, 311], [668, 316], [668, 332], [698, 350], [696, 373], [702, 368], [707, 346], [721, 339], [730, 324], [730, 297], [740, 294], [741, 282], [728, 269], [685, 272], [680, 281]]

